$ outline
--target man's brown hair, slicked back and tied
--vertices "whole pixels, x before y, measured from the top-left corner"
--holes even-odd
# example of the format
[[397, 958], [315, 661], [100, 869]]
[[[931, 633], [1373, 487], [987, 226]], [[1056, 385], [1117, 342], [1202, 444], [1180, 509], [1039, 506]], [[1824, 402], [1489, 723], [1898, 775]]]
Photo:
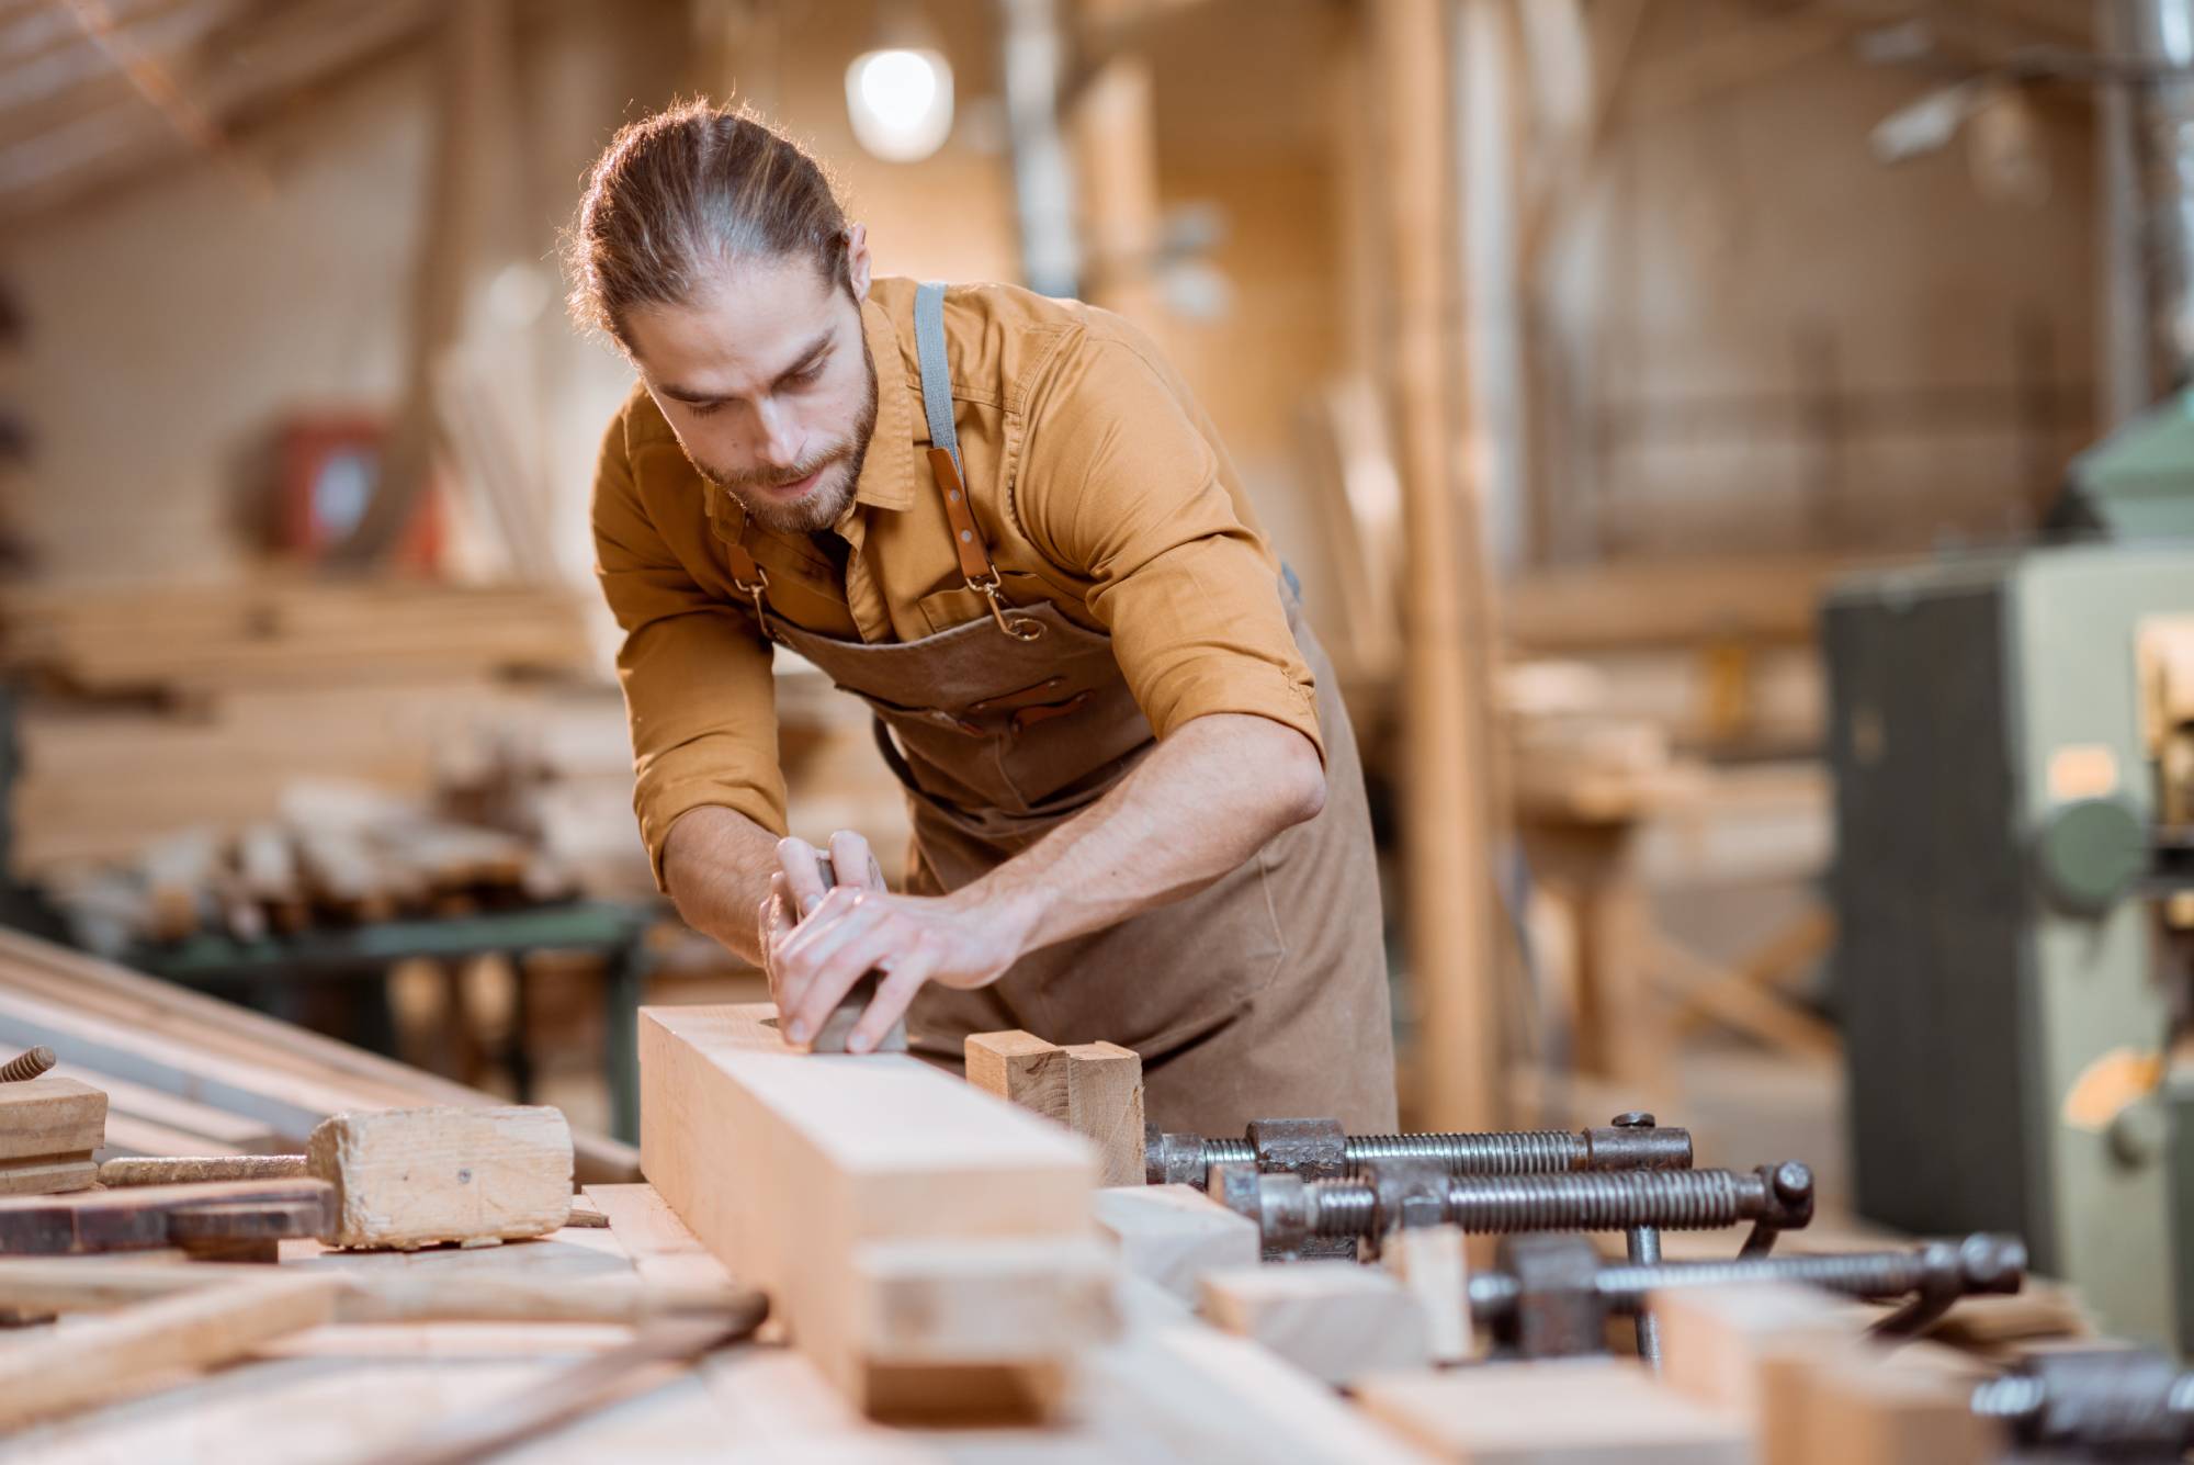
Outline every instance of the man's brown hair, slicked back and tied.
[[847, 285], [845, 211], [823, 167], [746, 107], [693, 99], [619, 129], [566, 246], [570, 311], [625, 342], [636, 305], [685, 305], [713, 268], [805, 254]]

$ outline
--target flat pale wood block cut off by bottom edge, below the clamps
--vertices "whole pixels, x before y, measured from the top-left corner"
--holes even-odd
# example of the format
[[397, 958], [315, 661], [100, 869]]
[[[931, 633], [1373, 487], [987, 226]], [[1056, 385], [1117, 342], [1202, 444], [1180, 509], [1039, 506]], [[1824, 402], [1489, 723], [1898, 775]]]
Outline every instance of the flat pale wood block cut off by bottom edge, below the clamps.
[[1744, 1423], [1610, 1358], [1481, 1364], [1356, 1382], [1356, 1401], [1470, 1465], [1749, 1465]]

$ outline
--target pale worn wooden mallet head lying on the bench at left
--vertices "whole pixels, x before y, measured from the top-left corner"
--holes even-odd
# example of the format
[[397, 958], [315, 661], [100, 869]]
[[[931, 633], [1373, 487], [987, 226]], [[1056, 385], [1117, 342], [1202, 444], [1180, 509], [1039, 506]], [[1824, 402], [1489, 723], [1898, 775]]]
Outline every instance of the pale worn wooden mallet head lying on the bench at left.
[[551, 1108], [336, 1114], [305, 1158], [336, 1186], [329, 1246], [544, 1237], [570, 1215], [570, 1125]]

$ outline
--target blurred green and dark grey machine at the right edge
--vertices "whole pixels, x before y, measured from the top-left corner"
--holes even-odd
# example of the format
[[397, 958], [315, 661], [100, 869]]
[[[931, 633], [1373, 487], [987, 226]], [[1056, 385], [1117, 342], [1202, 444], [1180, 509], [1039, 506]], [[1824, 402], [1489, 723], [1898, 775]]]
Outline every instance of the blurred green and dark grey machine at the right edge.
[[2194, 1353], [2194, 397], [2051, 529], [1823, 607], [1856, 1200]]

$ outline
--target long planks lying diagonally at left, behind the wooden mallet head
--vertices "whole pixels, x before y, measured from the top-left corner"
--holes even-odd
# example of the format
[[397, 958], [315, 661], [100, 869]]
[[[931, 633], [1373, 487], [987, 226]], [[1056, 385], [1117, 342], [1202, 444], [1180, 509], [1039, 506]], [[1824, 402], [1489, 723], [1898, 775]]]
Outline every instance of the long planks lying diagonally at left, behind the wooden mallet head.
[[[498, 1105], [362, 1048], [0, 930], [0, 1046], [44, 1044], [61, 1077], [108, 1094], [108, 1156], [296, 1154], [349, 1110]], [[581, 1180], [627, 1180], [636, 1156], [577, 1134]]]

